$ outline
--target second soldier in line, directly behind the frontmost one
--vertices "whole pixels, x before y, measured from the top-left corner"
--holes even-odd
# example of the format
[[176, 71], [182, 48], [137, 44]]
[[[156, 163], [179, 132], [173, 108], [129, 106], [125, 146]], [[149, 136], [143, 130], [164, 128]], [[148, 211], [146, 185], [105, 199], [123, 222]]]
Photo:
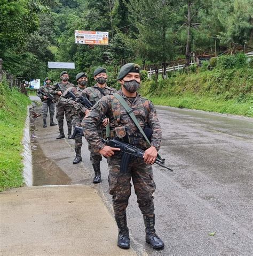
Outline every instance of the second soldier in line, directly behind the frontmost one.
[[[109, 86], [106, 85], [107, 73], [104, 67], [98, 67], [96, 70], [94, 70], [93, 76], [94, 76], [94, 80], [96, 80], [97, 82], [96, 85], [84, 89], [83, 95], [85, 97], [88, 97], [88, 99], [94, 106], [94, 104], [96, 104], [105, 95], [115, 93], [116, 89], [110, 88]], [[86, 109], [85, 114], [87, 115], [88, 113], [89, 113], [89, 110]], [[106, 119], [105, 119], [105, 122], [103, 122], [99, 126], [101, 137], [105, 137], [105, 126], [106, 126]], [[90, 146], [89, 146], [89, 150], [91, 151], [91, 161], [92, 161], [92, 166], [95, 173], [95, 176], [93, 178], [93, 183], [100, 183], [101, 182], [100, 162], [102, 160], [102, 156], [99, 153], [93, 152]]]

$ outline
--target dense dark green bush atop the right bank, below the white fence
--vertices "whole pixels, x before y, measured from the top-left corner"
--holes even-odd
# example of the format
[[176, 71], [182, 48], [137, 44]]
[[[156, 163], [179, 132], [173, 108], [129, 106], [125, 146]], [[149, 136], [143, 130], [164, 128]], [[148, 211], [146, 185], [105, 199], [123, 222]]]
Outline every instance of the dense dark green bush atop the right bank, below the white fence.
[[247, 56], [242, 52], [236, 55], [223, 55], [217, 58], [220, 69], [234, 69], [247, 66]]

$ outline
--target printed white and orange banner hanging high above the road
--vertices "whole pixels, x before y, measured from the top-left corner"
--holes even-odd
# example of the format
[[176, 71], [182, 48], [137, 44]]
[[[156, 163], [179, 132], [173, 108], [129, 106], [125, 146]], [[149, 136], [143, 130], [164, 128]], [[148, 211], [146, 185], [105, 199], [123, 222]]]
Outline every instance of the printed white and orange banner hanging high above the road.
[[75, 30], [75, 41], [81, 44], [105, 44], [109, 43], [109, 33], [101, 31]]

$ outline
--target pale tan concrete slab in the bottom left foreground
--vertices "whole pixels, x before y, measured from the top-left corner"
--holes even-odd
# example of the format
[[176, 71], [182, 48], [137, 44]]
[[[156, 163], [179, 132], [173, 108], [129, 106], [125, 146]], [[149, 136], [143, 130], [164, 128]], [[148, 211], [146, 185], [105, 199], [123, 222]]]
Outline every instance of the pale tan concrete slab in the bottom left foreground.
[[1, 255], [136, 255], [117, 247], [117, 227], [97, 190], [22, 187], [0, 194]]

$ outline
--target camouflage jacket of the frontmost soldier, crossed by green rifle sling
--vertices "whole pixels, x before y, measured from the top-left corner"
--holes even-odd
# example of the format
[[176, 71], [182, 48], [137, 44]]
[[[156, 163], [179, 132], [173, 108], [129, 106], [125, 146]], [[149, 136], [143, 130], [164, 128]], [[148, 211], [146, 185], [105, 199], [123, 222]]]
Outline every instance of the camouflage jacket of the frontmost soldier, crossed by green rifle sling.
[[[153, 103], [144, 99], [138, 93], [135, 98], [125, 96], [121, 90], [118, 91], [118, 94], [120, 94], [128, 103], [129, 107], [132, 108], [141, 128], [152, 128], [153, 135], [151, 137], [151, 145], [159, 150], [162, 132]], [[85, 116], [82, 122], [85, 138], [94, 152], [98, 152], [105, 146], [99, 138], [96, 129], [99, 118], [103, 115], [106, 115], [109, 118], [111, 137], [122, 138], [126, 134], [129, 137], [130, 144], [144, 150], [149, 147], [127, 111], [115, 96], [111, 94], [102, 97], [102, 99], [91, 109], [89, 114]]]

